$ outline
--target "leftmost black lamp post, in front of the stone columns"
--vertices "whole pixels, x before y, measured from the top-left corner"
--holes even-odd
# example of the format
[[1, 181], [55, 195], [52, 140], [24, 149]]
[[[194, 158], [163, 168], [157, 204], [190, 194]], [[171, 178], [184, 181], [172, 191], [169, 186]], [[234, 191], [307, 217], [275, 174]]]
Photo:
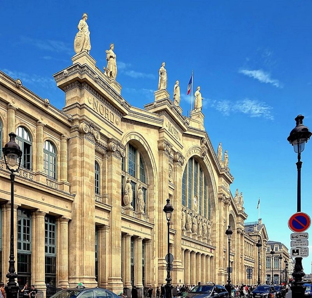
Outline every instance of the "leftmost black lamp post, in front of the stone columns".
[[4, 145], [2, 148], [4, 161], [6, 169], [8, 169], [11, 180], [11, 212], [10, 212], [10, 259], [8, 261], [8, 273], [6, 277], [8, 279], [7, 285], [5, 287], [6, 298], [17, 298], [18, 287], [15, 282], [15, 278], [17, 278], [17, 274], [15, 272], [15, 261], [14, 261], [14, 178], [15, 172], [19, 170], [22, 150], [16, 144], [15, 138], [16, 135], [14, 133], [8, 134], [10, 137], [10, 141]]

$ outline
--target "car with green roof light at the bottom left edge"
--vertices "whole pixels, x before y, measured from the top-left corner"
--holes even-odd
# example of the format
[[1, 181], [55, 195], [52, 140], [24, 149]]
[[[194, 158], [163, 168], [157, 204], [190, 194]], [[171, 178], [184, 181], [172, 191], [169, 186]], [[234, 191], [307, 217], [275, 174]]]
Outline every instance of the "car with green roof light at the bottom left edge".
[[102, 288], [68, 288], [51, 298], [119, 298], [115, 293]]

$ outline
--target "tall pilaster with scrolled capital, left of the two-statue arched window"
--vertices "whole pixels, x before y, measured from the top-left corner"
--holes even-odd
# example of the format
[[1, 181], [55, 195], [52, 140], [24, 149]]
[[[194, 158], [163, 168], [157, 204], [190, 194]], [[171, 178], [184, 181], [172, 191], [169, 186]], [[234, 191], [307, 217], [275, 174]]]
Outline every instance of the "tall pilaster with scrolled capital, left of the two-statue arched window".
[[[109, 139], [107, 145], [107, 192], [111, 212], [109, 216], [108, 288], [114, 293], [123, 290], [121, 282], [121, 157], [125, 151], [115, 139]], [[94, 161], [93, 161], [94, 166]], [[93, 183], [94, 184], [94, 183]], [[130, 258], [129, 258], [130, 260]]]

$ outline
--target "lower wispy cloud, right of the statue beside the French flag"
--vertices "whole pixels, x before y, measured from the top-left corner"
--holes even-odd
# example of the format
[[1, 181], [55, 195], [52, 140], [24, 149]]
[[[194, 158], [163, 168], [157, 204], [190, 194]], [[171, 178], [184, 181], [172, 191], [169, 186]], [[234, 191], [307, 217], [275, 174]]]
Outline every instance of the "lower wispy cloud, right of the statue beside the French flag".
[[245, 98], [231, 102], [230, 100], [212, 100], [208, 99], [208, 105], [229, 116], [232, 113], [243, 113], [249, 117], [262, 117], [273, 120], [273, 108], [264, 102]]

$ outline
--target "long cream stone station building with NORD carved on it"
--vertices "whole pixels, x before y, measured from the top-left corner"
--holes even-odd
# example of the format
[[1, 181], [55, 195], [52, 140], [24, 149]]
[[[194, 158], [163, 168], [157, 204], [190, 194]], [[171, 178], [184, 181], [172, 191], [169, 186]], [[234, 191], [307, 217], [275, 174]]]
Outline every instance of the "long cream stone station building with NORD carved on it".
[[[232, 283], [256, 283], [258, 239], [264, 281], [265, 226], [246, 229], [242, 197], [230, 191], [234, 177], [213, 148], [202, 111], [183, 116], [165, 89], [144, 109], [131, 106], [88, 53], [72, 61], [54, 74], [65, 93], [62, 110], [0, 72], [0, 147], [14, 132], [23, 151], [14, 184], [18, 284], [45, 291], [82, 282], [115, 293], [164, 284], [167, 198], [174, 208], [173, 285], [227, 283], [229, 224]], [[132, 198], [125, 204], [128, 179]], [[0, 185], [0, 274], [7, 282], [10, 179], [2, 152]], [[254, 269], [249, 281], [247, 267]]]

